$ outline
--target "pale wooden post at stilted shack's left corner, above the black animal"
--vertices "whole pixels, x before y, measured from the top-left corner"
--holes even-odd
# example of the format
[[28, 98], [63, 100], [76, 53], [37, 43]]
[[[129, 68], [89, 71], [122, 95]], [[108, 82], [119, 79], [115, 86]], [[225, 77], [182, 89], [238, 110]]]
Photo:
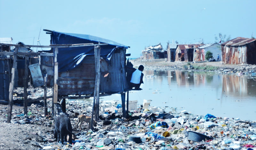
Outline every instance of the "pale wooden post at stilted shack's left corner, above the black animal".
[[54, 48], [54, 87], [53, 87], [53, 103], [54, 103], [54, 110], [53, 110], [53, 119], [54, 122], [56, 121], [56, 111], [57, 111], [57, 102], [58, 102], [58, 85], [57, 85], [57, 79], [58, 79], [58, 62], [57, 62], [57, 54], [58, 54], [58, 48]]

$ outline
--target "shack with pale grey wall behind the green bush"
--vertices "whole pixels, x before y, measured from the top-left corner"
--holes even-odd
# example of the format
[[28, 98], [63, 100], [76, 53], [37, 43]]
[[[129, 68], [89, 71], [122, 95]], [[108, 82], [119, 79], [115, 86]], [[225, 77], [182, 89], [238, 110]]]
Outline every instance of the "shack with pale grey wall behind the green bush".
[[[195, 49], [193, 60], [195, 62], [207, 61], [207, 60], [205, 60], [205, 54], [207, 51], [212, 52], [212, 56], [215, 58], [215, 60], [217, 60], [217, 55], [219, 54], [219, 56], [220, 56], [220, 54], [221, 54], [221, 46], [218, 43], [205, 44], [203, 46], [200, 46]], [[220, 56], [219, 60], [221, 61], [221, 56]]]

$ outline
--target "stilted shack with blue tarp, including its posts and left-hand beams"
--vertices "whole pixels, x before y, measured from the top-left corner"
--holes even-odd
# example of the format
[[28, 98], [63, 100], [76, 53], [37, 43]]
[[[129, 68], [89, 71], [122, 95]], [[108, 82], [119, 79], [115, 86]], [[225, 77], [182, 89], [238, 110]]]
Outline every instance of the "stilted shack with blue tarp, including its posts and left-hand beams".
[[[61, 102], [62, 110], [65, 111], [66, 99], [81, 99], [93, 96], [92, 119], [95, 116], [97, 121], [99, 119], [99, 97], [111, 94], [121, 94], [123, 117], [126, 118], [128, 114], [128, 94], [129, 90], [132, 90], [127, 82], [125, 69], [126, 56], [129, 56], [129, 54], [125, 53], [129, 47], [86, 34], [69, 34], [52, 30], [44, 31], [46, 31], [46, 34], [51, 35], [51, 45], [23, 45], [23, 47], [51, 48], [50, 53], [33, 53], [33, 55], [53, 57], [52, 72], [51, 69], [46, 69], [44, 74], [52, 74], [54, 78], [52, 84], [48, 83], [53, 85], [52, 114], [54, 119], [56, 119], [58, 102]], [[0, 43], [0, 45], [4, 44]], [[5, 53], [0, 52], [0, 55], [7, 55]], [[9, 52], [8, 55], [13, 55], [15, 59], [17, 53], [16, 51]], [[27, 55], [30, 54], [27, 53]], [[13, 64], [12, 68], [15, 68], [15, 64]], [[12, 88], [12, 80], [10, 88]], [[45, 78], [45, 85], [47, 84], [46, 81], [47, 79]], [[51, 80], [48, 80], [48, 82], [51, 82]], [[127, 93], [126, 110], [125, 93]], [[12, 106], [11, 97], [12, 92], [10, 92], [9, 96], [10, 107]], [[10, 112], [11, 110], [8, 109], [8, 114]], [[92, 128], [92, 125], [90, 127]]]

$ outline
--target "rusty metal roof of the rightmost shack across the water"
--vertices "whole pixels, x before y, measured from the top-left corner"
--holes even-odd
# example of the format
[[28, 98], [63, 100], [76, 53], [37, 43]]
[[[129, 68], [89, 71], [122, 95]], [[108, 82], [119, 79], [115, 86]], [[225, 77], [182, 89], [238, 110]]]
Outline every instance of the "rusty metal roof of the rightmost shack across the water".
[[242, 46], [242, 45], [246, 45], [248, 43], [251, 43], [253, 41], [256, 41], [256, 39], [237, 37], [237, 38], [232, 39], [230, 41], [226, 41], [226, 42], [222, 43], [221, 45], [225, 45], [225, 46]]

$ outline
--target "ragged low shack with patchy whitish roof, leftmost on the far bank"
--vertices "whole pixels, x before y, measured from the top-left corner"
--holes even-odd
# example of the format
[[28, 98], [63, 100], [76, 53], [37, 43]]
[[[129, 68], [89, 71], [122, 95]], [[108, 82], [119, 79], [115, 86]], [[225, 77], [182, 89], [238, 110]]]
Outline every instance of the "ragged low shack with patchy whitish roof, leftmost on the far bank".
[[149, 46], [142, 50], [142, 56], [144, 59], [159, 59], [159, 58], [166, 58], [167, 51], [163, 50], [161, 43], [155, 46]]

